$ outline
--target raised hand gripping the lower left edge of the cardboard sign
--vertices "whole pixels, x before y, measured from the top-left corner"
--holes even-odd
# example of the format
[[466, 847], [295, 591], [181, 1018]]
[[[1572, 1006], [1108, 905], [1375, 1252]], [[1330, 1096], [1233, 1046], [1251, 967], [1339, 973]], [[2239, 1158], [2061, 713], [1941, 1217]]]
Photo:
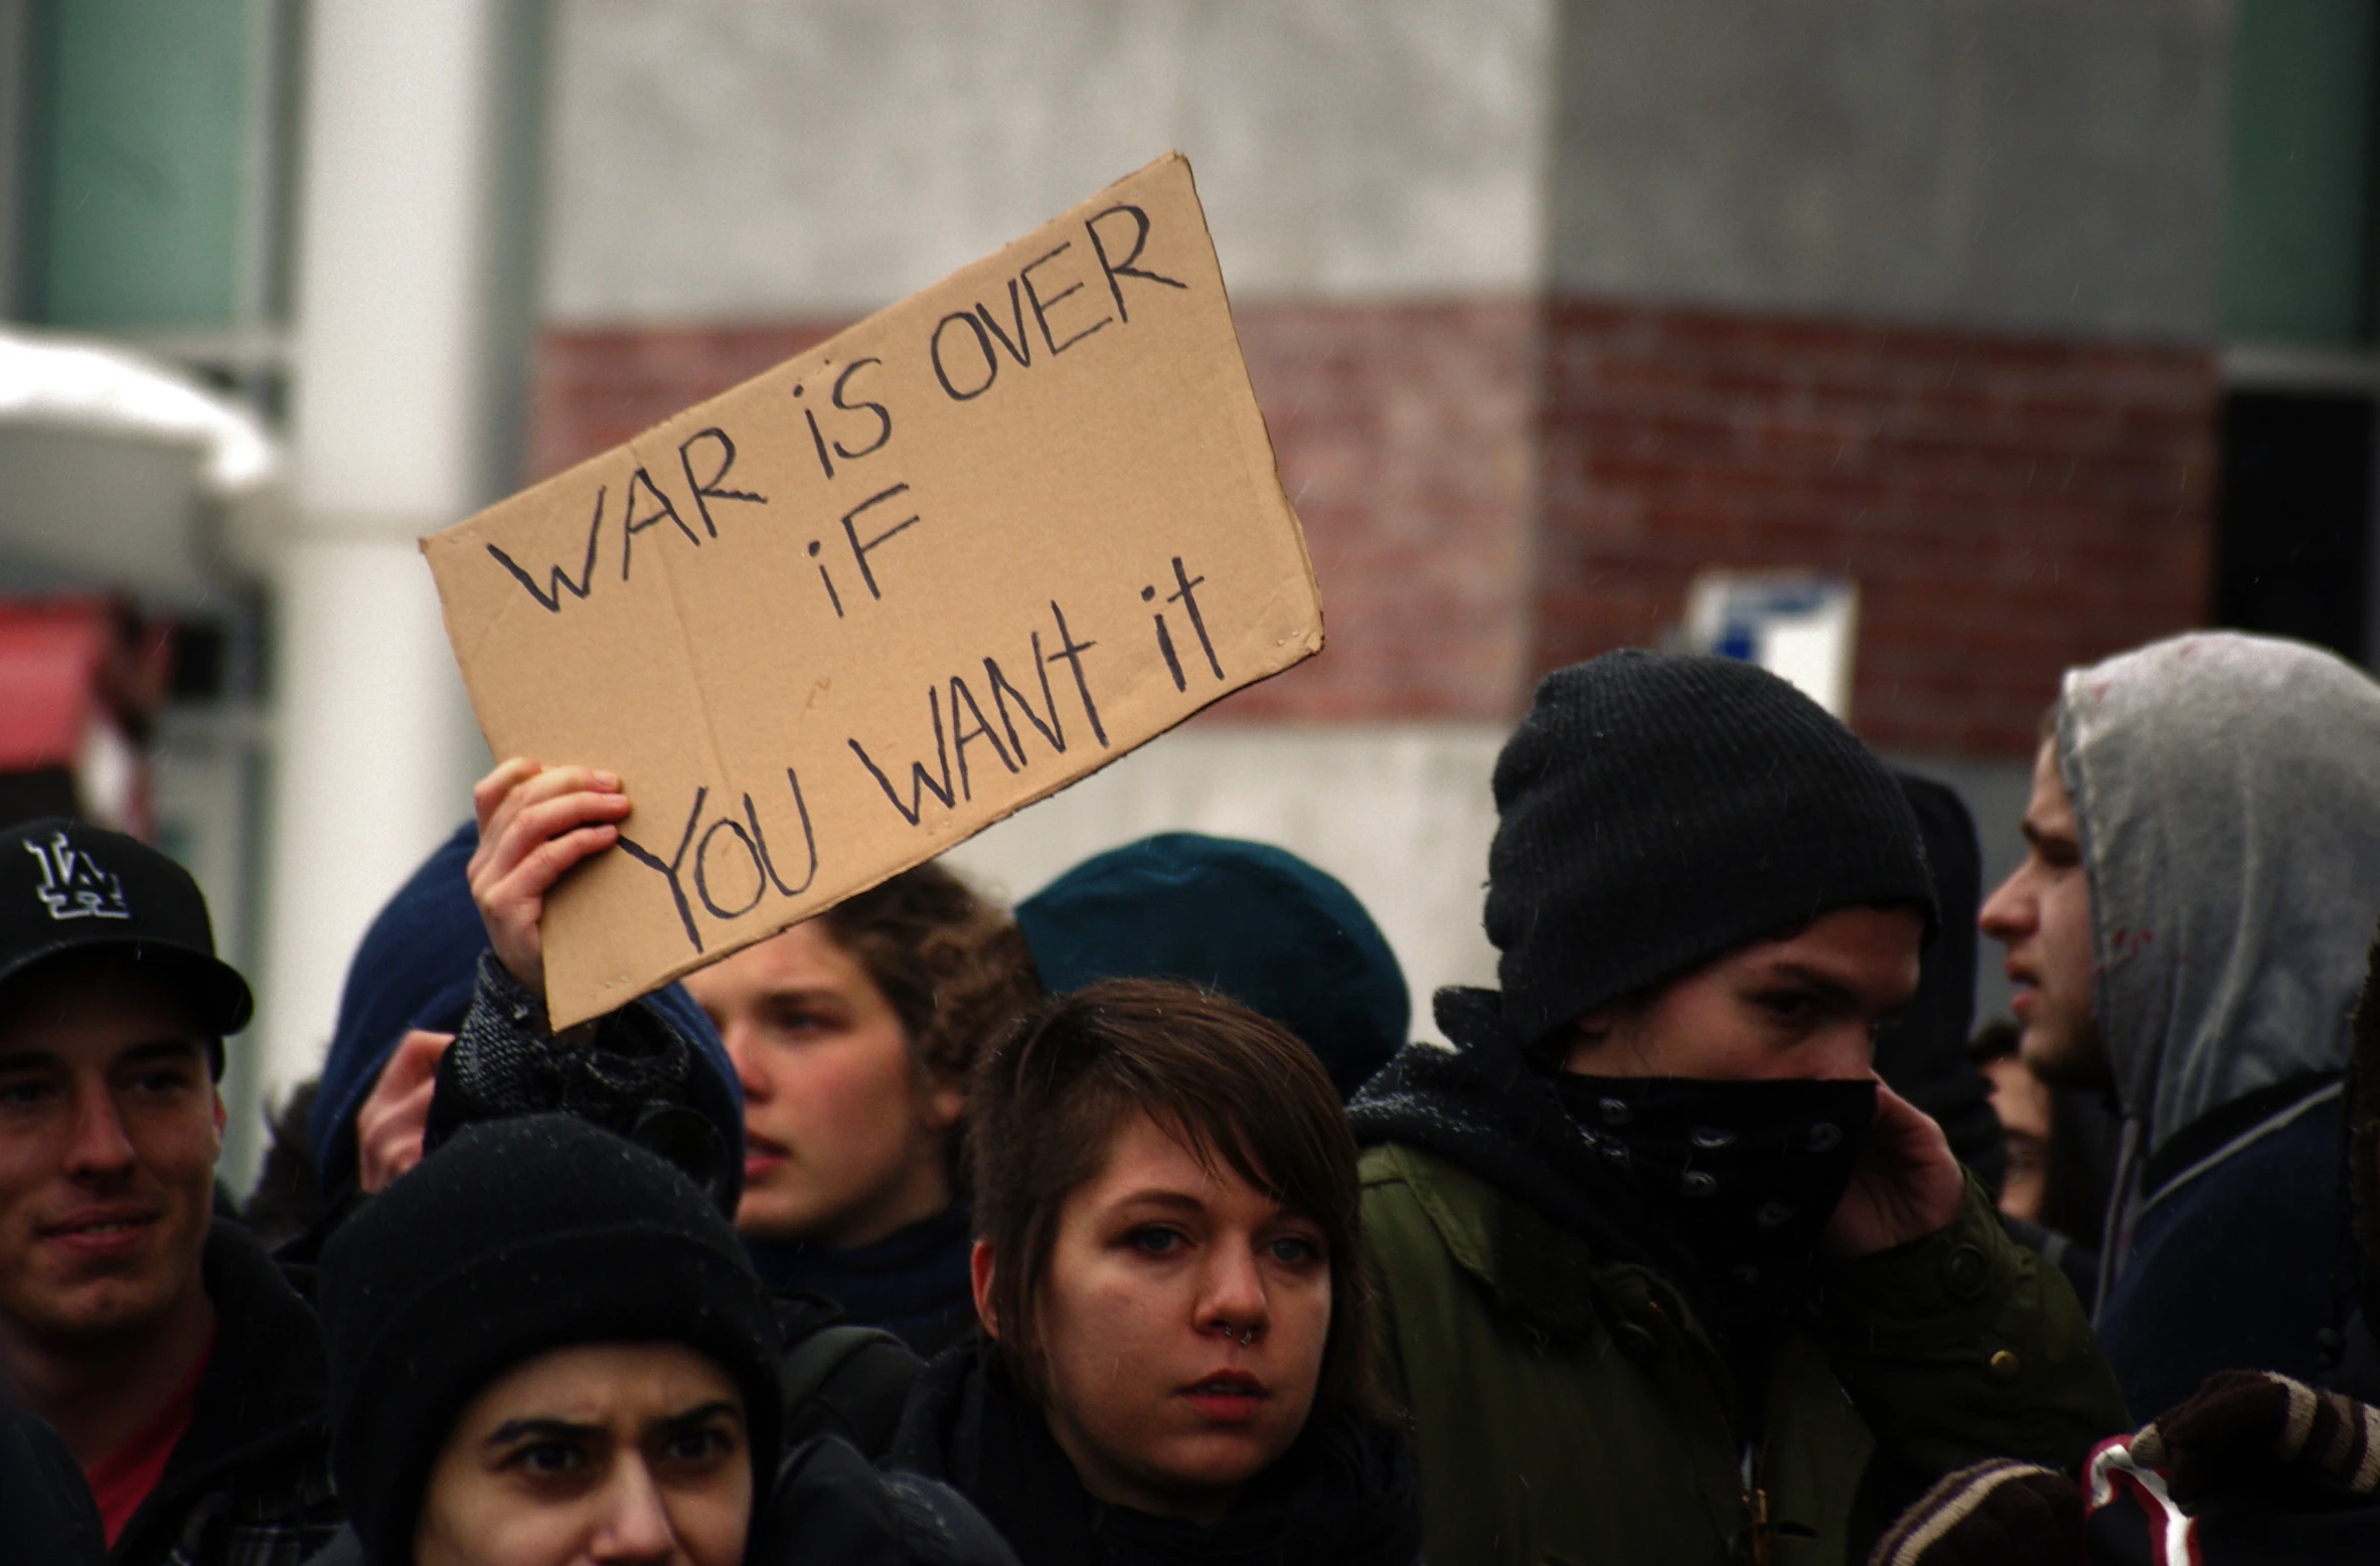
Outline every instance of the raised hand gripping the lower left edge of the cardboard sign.
[[540, 766], [514, 757], [471, 788], [478, 847], [471, 902], [488, 945], [524, 990], [545, 997], [545, 942], [538, 921], [564, 871], [619, 842], [628, 795], [590, 766]]

